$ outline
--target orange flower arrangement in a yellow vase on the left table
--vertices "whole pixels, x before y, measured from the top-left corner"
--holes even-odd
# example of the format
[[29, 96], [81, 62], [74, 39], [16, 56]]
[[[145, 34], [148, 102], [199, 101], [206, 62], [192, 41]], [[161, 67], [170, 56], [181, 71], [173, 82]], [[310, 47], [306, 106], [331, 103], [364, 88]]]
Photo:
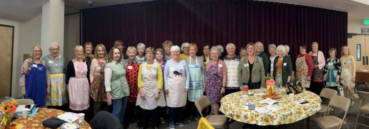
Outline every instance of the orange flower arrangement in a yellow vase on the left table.
[[14, 98], [7, 97], [1, 102], [1, 112], [3, 113], [3, 121], [1, 128], [10, 129], [10, 115], [13, 115], [17, 110], [18, 103]]

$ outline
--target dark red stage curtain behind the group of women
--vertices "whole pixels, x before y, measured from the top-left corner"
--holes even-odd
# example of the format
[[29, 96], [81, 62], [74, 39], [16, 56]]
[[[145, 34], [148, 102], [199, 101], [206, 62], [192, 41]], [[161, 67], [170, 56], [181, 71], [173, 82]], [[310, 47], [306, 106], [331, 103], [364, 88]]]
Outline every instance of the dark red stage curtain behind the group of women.
[[[249, 0], [154, 0], [84, 9], [82, 43], [102, 43], [108, 49], [115, 40], [126, 46], [142, 42], [162, 48], [169, 39], [201, 45], [232, 42], [237, 49], [248, 42], [289, 45], [296, 57], [299, 45], [311, 43], [328, 56], [330, 48], [347, 45], [347, 13], [324, 8]], [[238, 53], [238, 50], [237, 50]], [[226, 52], [225, 52], [226, 54]], [[268, 53], [269, 54], [269, 53]], [[339, 52], [338, 55], [339, 56]]]

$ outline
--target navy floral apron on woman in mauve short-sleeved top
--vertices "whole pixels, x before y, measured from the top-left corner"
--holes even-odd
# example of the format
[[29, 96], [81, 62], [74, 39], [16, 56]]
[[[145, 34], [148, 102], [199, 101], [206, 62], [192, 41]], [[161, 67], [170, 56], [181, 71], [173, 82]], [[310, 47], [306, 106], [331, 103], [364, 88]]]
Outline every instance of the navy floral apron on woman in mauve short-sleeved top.
[[223, 79], [218, 75], [218, 63], [206, 70], [206, 95], [211, 103], [220, 102], [223, 95], [220, 94], [223, 85]]

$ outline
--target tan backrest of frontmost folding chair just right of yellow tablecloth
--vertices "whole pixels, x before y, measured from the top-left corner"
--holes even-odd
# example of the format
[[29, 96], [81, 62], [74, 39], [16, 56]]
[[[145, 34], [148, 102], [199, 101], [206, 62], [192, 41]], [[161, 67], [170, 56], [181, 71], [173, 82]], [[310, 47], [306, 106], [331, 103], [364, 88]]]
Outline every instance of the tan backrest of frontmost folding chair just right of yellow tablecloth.
[[336, 107], [346, 112], [348, 108], [350, 107], [350, 105], [351, 105], [350, 99], [335, 95], [329, 101], [328, 107], [329, 106]]

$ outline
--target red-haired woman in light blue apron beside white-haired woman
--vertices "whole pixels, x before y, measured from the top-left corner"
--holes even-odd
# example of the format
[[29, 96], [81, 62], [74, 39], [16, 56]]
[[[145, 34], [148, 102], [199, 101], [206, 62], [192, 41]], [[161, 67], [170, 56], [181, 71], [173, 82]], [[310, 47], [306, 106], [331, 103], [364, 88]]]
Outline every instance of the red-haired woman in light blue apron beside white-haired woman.
[[187, 93], [187, 110], [189, 118], [187, 122], [192, 122], [193, 119], [199, 120], [201, 118], [195, 106], [195, 100], [200, 98], [203, 94], [203, 86], [206, 85], [204, 62], [201, 57], [196, 56], [197, 45], [191, 43], [189, 47], [190, 57], [186, 58], [188, 69], [190, 71], [190, 86]]

